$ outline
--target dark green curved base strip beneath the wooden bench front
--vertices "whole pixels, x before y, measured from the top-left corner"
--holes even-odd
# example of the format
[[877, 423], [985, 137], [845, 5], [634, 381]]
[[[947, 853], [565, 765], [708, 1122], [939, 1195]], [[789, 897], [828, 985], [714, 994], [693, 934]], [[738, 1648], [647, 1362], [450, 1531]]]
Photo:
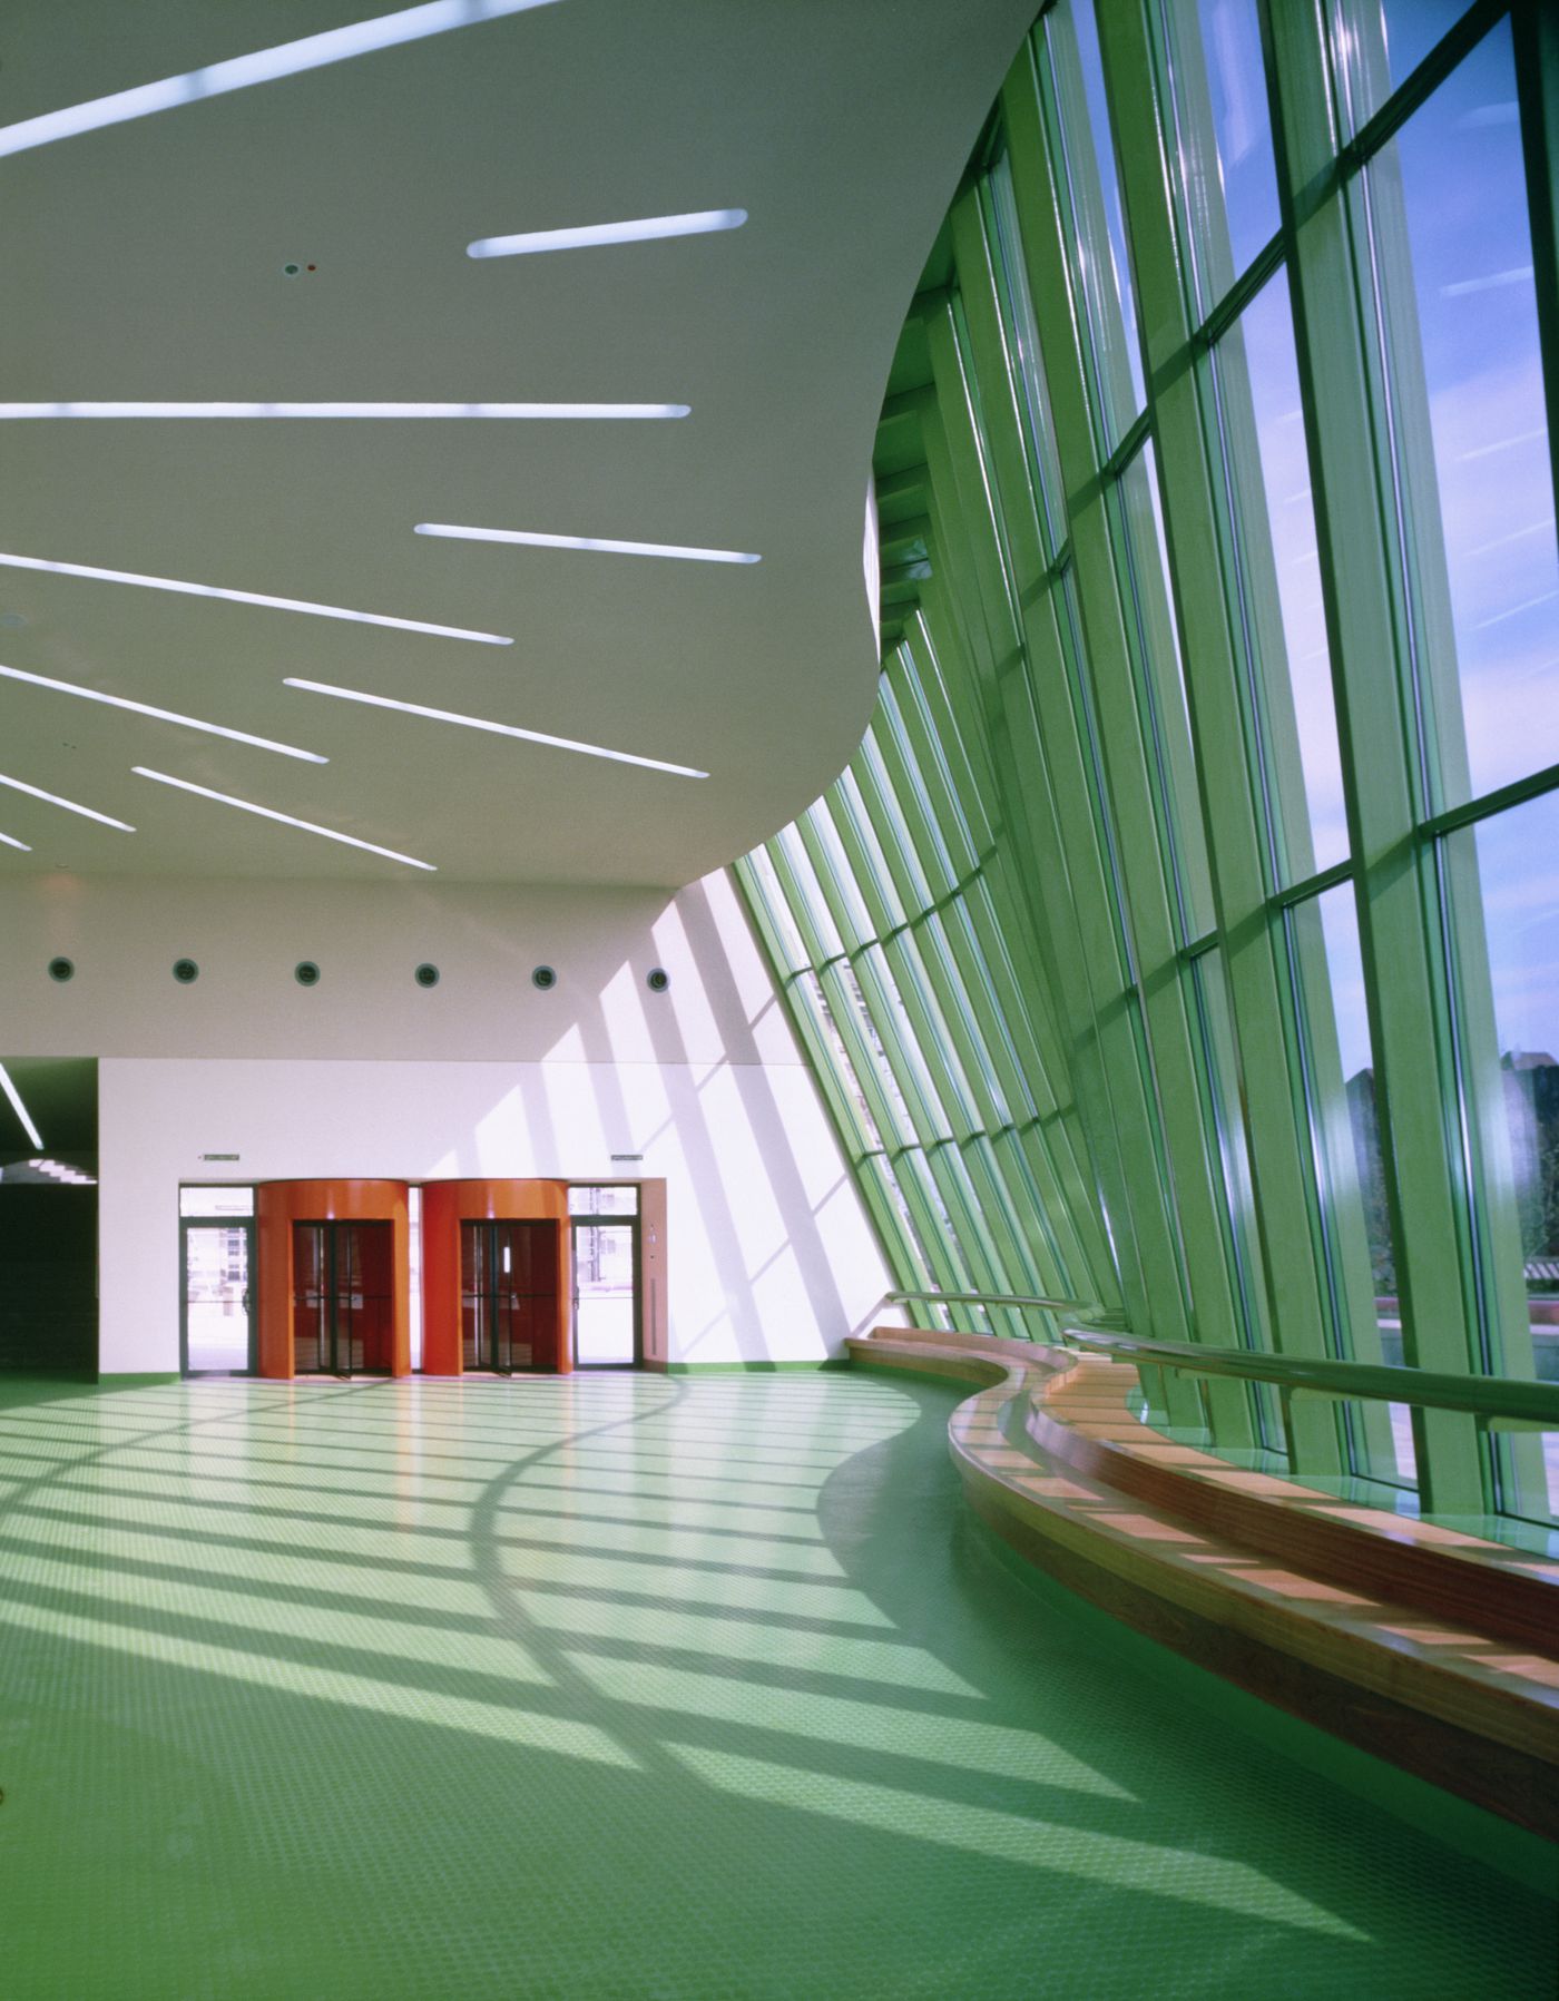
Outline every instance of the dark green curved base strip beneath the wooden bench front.
[[1221, 1723], [1231, 1723], [1245, 1735], [1255, 1737], [1279, 1757], [1303, 1765], [1305, 1771], [1321, 1773], [1333, 1785], [1357, 1793], [1383, 1813], [1407, 1821], [1431, 1841], [1457, 1849], [1473, 1861], [1487, 1863], [1503, 1875], [1513, 1877], [1541, 1897], [1559, 1899], [1559, 1847], [1541, 1835], [1503, 1821], [1497, 1813], [1485, 1813], [1467, 1799], [1447, 1793], [1427, 1779], [1417, 1779], [1397, 1765], [1371, 1757], [1357, 1745], [1343, 1743], [1315, 1723], [1291, 1717], [1287, 1709], [1263, 1703], [1259, 1695], [1213, 1675], [1185, 1655], [1163, 1647], [1157, 1639], [1137, 1633], [1133, 1627], [1113, 1619], [1107, 1611], [1077, 1597], [1065, 1585], [1029, 1563], [1019, 1551], [1005, 1543], [995, 1529], [969, 1513], [969, 1527], [979, 1543], [1017, 1577], [1027, 1591], [1043, 1599], [1053, 1611], [1075, 1621], [1101, 1647], [1111, 1649], [1135, 1669], [1151, 1675], [1175, 1695], [1207, 1709]]

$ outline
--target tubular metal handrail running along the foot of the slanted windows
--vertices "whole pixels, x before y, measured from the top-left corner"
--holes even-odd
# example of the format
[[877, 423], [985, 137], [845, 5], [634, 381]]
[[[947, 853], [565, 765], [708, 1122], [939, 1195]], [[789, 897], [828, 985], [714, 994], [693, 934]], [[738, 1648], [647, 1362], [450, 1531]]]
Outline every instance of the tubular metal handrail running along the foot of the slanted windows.
[[[889, 1293], [887, 1297], [897, 1305], [931, 1301], [949, 1307], [1045, 1307], [1051, 1313], [1075, 1313], [1081, 1319], [1119, 1319], [1091, 1301], [1035, 1299], [1027, 1293]], [[1415, 1403], [1427, 1411], [1461, 1411], [1485, 1423], [1493, 1421], [1495, 1427], [1507, 1421], [1533, 1425], [1539, 1431], [1559, 1431], [1559, 1383], [1537, 1383], [1531, 1377], [1453, 1377], [1427, 1369], [1393, 1367], [1391, 1363], [1255, 1355], [1251, 1349], [1205, 1349], [1187, 1341], [1147, 1341], [1141, 1335], [1117, 1335], [1091, 1327], [1063, 1327], [1061, 1337], [1073, 1347], [1109, 1355], [1115, 1361], [1183, 1369], [1187, 1375], [1271, 1383], [1285, 1397]]]

